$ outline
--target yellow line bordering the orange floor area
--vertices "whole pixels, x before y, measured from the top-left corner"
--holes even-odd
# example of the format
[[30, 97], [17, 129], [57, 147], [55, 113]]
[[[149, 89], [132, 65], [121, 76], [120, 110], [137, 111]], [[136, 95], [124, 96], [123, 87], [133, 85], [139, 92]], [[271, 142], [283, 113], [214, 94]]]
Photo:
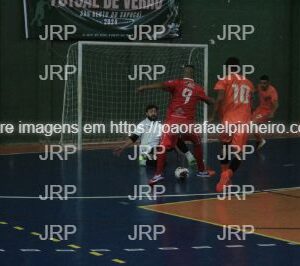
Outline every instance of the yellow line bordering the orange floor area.
[[[288, 190], [291, 190], [291, 189], [292, 188], [288, 188]], [[294, 189], [299, 189], [299, 187], [294, 187]], [[279, 190], [279, 189], [277, 189], [277, 190]], [[260, 192], [260, 193], [256, 193], [256, 194], [265, 194], [265, 193], [268, 193], [268, 192], [269, 191], [264, 191], [264, 192]], [[162, 213], [162, 214], [166, 214], [166, 215], [170, 215], [170, 216], [174, 216], [174, 217], [178, 217], [178, 218], [187, 219], [187, 220], [190, 220], [190, 221], [202, 222], [202, 223], [206, 223], [206, 224], [210, 224], [210, 225], [214, 225], [214, 226], [218, 226], [218, 227], [224, 228], [224, 226], [226, 226], [224, 224], [219, 224], [219, 223], [215, 223], [215, 222], [211, 222], [211, 221], [207, 221], [207, 220], [202, 220], [202, 219], [191, 218], [191, 217], [187, 217], [187, 216], [180, 215], [180, 214], [173, 214], [173, 213], [167, 212], [167, 211], [161, 211], [161, 210], [153, 210], [153, 209], [151, 209], [151, 207], [161, 206], [161, 205], [172, 205], [172, 204], [180, 204], [180, 203], [187, 203], [187, 202], [194, 202], [194, 201], [216, 200], [216, 199], [217, 198], [208, 198], [208, 199], [196, 199], [196, 200], [178, 201], [178, 202], [170, 202], [170, 203], [162, 203], [162, 204], [152, 204], [152, 205], [138, 206], [138, 208], [144, 209], [144, 210], [147, 210], [147, 211]], [[247, 233], [247, 231], [244, 230], [244, 229], [241, 229], [240, 231]], [[296, 245], [300, 245], [300, 242], [297, 242], [297, 241], [291, 241], [289, 239], [275, 237], [275, 236], [270, 236], [270, 235], [263, 234], [263, 233], [254, 232], [253, 235], [259, 235], [259, 236], [263, 236], [263, 237], [267, 237], [267, 238], [271, 238], [271, 239], [275, 239], [275, 240], [279, 240], [279, 241], [283, 241], [283, 242], [287, 242], [287, 243], [294, 243]]]

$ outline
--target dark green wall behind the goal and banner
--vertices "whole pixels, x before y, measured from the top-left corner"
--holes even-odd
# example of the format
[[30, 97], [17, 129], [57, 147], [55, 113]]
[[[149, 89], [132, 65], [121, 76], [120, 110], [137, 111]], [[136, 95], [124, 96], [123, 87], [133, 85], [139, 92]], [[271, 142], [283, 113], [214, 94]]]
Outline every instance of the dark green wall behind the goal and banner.
[[[209, 47], [209, 93], [222, 63], [236, 55], [256, 68], [256, 83], [267, 73], [278, 88], [276, 120], [300, 121], [300, 1], [182, 0], [182, 37], [171, 42], [209, 43], [223, 24], [253, 24], [247, 41], [216, 41]], [[22, 1], [2, 0], [0, 10], [0, 121], [59, 122], [63, 82], [40, 81], [44, 64], [63, 64], [70, 42], [25, 40]], [[39, 138], [42, 139], [42, 138]], [[36, 137], [5, 137], [2, 142], [37, 141]]]

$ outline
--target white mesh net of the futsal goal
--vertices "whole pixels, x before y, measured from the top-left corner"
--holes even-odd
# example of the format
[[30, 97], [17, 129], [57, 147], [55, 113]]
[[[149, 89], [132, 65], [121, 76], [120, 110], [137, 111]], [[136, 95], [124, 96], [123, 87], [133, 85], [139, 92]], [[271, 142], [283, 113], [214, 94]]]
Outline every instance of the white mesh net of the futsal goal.
[[[164, 120], [169, 94], [163, 91], [137, 93], [143, 84], [182, 77], [183, 66], [195, 66], [195, 81], [207, 88], [207, 46], [189, 44], [78, 42], [70, 46], [67, 64], [77, 73], [65, 84], [63, 124], [78, 125], [78, 134], [63, 133], [62, 144], [110, 143], [126, 138], [126, 134], [112, 132], [111, 125], [127, 122], [137, 124], [145, 118], [145, 107], [156, 104], [159, 118]], [[163, 74], [153, 73], [129, 78], [134, 69], [152, 70], [155, 66]], [[198, 106], [197, 122], [206, 118], [206, 107]], [[83, 128], [93, 125], [93, 133]], [[97, 132], [95, 132], [97, 131]]]

